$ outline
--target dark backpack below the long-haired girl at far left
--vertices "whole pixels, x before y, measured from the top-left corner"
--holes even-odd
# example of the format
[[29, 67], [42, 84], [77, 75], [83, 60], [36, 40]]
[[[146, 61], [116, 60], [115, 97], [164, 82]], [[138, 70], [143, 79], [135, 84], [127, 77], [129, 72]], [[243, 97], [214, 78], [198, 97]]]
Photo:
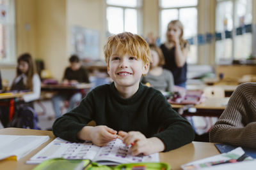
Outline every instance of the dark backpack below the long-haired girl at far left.
[[26, 104], [15, 104], [15, 112], [8, 127], [19, 127], [25, 129], [40, 129], [37, 126], [38, 117], [35, 110]]

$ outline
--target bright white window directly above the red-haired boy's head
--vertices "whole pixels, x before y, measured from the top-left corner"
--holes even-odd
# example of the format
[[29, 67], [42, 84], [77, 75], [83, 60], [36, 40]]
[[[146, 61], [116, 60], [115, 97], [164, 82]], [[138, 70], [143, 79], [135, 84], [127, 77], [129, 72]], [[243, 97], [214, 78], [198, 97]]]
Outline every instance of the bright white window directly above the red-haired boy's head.
[[106, 3], [108, 34], [124, 31], [141, 34], [141, 0], [107, 0]]

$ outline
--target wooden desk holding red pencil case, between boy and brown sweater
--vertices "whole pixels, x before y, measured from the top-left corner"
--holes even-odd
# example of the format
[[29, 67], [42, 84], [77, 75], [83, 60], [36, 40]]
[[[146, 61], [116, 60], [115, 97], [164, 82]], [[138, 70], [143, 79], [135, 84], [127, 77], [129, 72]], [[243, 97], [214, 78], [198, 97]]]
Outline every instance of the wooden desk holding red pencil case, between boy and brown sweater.
[[[196, 108], [195, 113], [184, 111], [184, 116], [203, 116], [203, 117], [220, 117], [223, 110], [225, 110], [230, 97], [220, 98], [208, 98], [203, 103], [196, 104], [193, 108]], [[172, 104], [172, 108], [179, 110], [184, 105]]]

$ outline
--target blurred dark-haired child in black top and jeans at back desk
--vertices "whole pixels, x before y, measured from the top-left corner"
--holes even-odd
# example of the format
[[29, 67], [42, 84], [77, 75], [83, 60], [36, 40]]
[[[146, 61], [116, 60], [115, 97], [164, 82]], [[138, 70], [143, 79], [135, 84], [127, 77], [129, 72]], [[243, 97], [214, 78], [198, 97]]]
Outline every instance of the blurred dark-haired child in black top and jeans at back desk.
[[[79, 57], [77, 55], [72, 55], [69, 58], [70, 66], [65, 69], [65, 73], [63, 76], [63, 84], [66, 85], [72, 85], [76, 83], [89, 83], [89, 76], [84, 69], [84, 67], [81, 65], [81, 62], [79, 60]], [[52, 97], [52, 105], [55, 112], [55, 117], [58, 118], [61, 116], [61, 106], [60, 102], [68, 100], [68, 111], [72, 108], [76, 107], [77, 104], [81, 101], [82, 94], [81, 92], [76, 93], [68, 93], [68, 94], [56, 94]]]

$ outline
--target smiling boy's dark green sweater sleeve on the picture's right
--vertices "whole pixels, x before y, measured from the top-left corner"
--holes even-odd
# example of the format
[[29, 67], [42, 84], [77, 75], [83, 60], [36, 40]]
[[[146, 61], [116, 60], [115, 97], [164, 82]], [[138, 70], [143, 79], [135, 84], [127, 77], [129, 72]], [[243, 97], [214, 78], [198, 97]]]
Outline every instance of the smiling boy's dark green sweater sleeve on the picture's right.
[[163, 141], [164, 152], [179, 148], [180, 146], [191, 143], [195, 137], [193, 127], [187, 120], [172, 109], [172, 106], [166, 101], [164, 96], [157, 96], [152, 101], [154, 105], [154, 122], [163, 131], [154, 136]]

